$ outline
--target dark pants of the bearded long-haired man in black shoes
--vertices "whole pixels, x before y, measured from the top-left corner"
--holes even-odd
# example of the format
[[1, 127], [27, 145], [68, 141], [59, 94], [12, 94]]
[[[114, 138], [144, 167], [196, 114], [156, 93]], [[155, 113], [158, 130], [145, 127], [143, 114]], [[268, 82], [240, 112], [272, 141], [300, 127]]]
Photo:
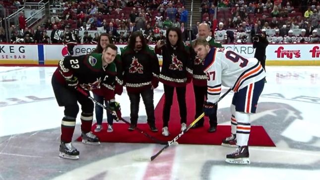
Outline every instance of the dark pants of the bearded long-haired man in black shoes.
[[138, 122], [138, 113], [139, 113], [139, 103], [140, 103], [140, 94], [145, 106], [145, 112], [147, 113], [148, 124], [154, 124], [154, 105], [153, 105], [153, 90], [146, 89], [141, 93], [129, 93], [128, 96], [130, 99], [130, 121], [131, 124], [137, 124]]

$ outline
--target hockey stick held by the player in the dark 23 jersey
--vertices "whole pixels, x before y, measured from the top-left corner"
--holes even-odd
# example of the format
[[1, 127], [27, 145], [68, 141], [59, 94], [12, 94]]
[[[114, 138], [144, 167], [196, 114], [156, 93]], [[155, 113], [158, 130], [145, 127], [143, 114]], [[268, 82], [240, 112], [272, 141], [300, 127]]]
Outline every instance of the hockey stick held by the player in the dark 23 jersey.
[[[89, 98], [91, 101], [93, 101], [94, 103], [96, 103], [98, 106], [102, 107], [103, 109], [107, 110], [109, 113], [115, 114], [110, 108], [107, 108], [105, 105], [99, 103], [97, 100], [95, 100], [93, 97], [90, 96], [90, 94], [87, 94], [82, 88], [77, 87], [77, 91], [79, 91], [81, 94], [83, 94], [84, 96], [86, 96], [87, 98]], [[130, 122], [128, 122], [127, 120], [123, 119], [122, 117], [118, 117], [119, 120], [124, 121], [126, 124], [130, 125]], [[148, 138], [152, 139], [153, 141], [155, 141], [156, 143], [159, 144], [168, 144], [167, 141], [161, 141], [151, 135], [149, 135], [148, 133], [144, 132], [143, 130], [141, 130], [138, 127], [134, 128], [135, 130], [139, 131], [141, 134], [147, 136]]]

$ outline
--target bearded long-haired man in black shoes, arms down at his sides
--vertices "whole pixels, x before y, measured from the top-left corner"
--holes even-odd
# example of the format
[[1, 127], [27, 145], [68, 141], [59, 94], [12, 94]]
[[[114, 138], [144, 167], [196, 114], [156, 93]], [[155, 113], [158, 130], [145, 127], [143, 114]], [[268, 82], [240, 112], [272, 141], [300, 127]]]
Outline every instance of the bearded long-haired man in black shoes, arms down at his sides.
[[139, 31], [133, 32], [129, 44], [121, 52], [124, 70], [124, 85], [130, 99], [130, 121], [128, 130], [133, 130], [138, 121], [140, 95], [142, 97], [147, 121], [152, 131], [155, 126], [153, 89], [158, 87], [160, 73], [159, 60]]

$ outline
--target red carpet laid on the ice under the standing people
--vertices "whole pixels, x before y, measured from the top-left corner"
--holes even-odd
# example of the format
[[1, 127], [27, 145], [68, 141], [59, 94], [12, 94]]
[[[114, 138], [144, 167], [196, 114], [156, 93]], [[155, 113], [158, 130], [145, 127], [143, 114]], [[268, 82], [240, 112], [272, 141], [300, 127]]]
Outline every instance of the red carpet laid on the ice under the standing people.
[[[188, 125], [194, 120], [194, 98], [193, 88], [189, 84], [187, 86], [187, 108], [188, 108]], [[154, 136], [157, 139], [170, 141], [180, 133], [180, 115], [179, 107], [176, 95], [171, 109], [171, 117], [169, 121], [170, 136], [164, 137], [161, 134], [162, 128], [162, 110], [164, 104], [164, 96], [162, 96], [160, 102], [155, 108], [156, 126], [159, 129], [158, 132], [151, 132], [148, 124], [138, 124], [138, 127], [146, 133]], [[222, 139], [230, 135], [230, 125], [218, 125], [217, 131], [214, 133], [208, 133], [206, 130], [209, 127], [208, 120], [205, 119], [204, 127], [197, 129], [190, 129], [186, 134], [178, 139], [181, 144], [212, 144], [220, 145]], [[94, 131], [95, 125], [92, 127]], [[95, 133], [101, 140], [101, 142], [128, 142], [128, 143], [154, 143], [151, 139], [141, 134], [140, 132], [128, 131], [128, 125], [125, 123], [114, 123], [114, 132], [107, 132], [107, 123], [103, 123], [103, 130]], [[81, 137], [78, 138], [81, 140]], [[266, 131], [262, 126], [252, 126], [249, 139], [250, 146], [275, 146]]]

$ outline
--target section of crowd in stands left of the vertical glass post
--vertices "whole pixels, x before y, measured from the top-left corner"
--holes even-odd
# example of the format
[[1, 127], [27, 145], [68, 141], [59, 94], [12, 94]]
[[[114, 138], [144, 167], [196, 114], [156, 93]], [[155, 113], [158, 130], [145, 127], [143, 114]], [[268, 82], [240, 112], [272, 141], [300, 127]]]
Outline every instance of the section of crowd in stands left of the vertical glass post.
[[[61, 13], [48, 19], [42, 30], [57, 29], [61, 41], [68, 27], [71, 31], [104, 31], [110, 33], [117, 43], [127, 43], [132, 32], [142, 31], [149, 43], [155, 43], [162, 36], [160, 34], [172, 26], [181, 28], [184, 41], [188, 40], [186, 24], [189, 12], [185, 8], [185, 0], [54, 0], [51, 7]], [[19, 29], [25, 30], [25, 27]], [[28, 31], [35, 34], [35, 30]], [[86, 34], [90, 36], [87, 40], [94, 39], [90, 33]]]

